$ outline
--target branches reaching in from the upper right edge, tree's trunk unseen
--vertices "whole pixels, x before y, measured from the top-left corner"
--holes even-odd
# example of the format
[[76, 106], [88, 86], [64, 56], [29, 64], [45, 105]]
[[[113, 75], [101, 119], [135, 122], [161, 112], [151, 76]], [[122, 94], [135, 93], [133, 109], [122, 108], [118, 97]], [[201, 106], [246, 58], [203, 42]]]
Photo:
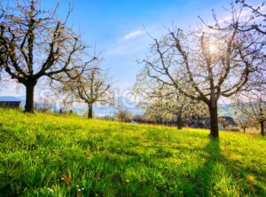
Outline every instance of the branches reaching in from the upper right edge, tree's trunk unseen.
[[[255, 41], [248, 46], [247, 50], [257, 51], [254, 53], [254, 59], [257, 59], [259, 69], [251, 79], [253, 83], [250, 83], [250, 90], [256, 91], [260, 87], [265, 88], [266, 85], [266, 2], [260, 0], [255, 4], [248, 4], [246, 0], [236, 0], [235, 3], [240, 4], [240, 8], [234, 9], [232, 6], [232, 20], [229, 26], [238, 27], [239, 32], [252, 35]], [[241, 17], [243, 9], [248, 12], [246, 17]]]

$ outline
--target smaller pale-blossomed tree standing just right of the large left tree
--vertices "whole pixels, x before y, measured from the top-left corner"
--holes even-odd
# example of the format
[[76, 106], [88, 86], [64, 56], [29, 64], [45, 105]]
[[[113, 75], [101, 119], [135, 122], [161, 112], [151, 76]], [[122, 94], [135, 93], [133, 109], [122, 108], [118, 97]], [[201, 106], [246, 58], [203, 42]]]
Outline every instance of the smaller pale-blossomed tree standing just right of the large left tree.
[[108, 79], [107, 73], [96, 66], [90, 67], [90, 70], [74, 80], [62, 82], [57, 89], [65, 94], [66, 102], [86, 103], [88, 105], [88, 118], [92, 118], [95, 103], [113, 103], [111, 88], [112, 82]]

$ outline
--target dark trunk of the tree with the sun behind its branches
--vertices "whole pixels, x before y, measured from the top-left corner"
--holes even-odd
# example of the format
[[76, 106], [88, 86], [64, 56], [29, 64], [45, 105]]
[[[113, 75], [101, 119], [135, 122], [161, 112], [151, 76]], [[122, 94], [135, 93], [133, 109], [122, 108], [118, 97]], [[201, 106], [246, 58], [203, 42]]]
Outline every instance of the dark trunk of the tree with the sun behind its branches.
[[219, 137], [218, 129], [218, 107], [217, 103], [212, 103], [208, 106], [209, 117], [210, 117], [210, 136], [214, 138]]

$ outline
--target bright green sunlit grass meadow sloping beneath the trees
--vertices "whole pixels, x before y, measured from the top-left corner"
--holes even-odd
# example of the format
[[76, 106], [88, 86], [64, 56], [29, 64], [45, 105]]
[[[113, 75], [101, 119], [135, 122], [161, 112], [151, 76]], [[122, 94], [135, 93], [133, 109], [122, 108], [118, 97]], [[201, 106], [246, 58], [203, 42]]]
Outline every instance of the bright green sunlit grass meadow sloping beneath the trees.
[[0, 109], [0, 196], [266, 196], [266, 138]]

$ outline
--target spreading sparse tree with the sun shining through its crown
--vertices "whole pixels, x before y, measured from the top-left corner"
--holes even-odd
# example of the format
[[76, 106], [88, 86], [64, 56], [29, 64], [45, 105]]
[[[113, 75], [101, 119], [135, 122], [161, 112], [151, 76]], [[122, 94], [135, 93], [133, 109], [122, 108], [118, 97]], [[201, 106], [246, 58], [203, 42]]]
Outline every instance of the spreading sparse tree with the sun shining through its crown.
[[237, 27], [188, 33], [176, 29], [160, 40], [154, 39], [151, 55], [142, 63], [149, 77], [206, 103], [210, 135], [218, 137], [219, 98], [241, 91], [256, 68], [255, 51], [246, 51], [251, 42], [248, 38], [239, 34]]

